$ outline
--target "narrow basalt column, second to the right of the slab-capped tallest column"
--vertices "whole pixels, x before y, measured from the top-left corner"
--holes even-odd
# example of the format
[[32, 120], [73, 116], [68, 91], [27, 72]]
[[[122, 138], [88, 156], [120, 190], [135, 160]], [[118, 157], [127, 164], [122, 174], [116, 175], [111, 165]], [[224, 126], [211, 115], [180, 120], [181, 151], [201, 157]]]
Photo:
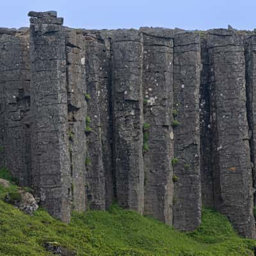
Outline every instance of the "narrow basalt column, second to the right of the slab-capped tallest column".
[[108, 90], [110, 44], [108, 36], [99, 31], [84, 31], [84, 38], [88, 102], [85, 127], [87, 202], [91, 209], [104, 210], [113, 199]]

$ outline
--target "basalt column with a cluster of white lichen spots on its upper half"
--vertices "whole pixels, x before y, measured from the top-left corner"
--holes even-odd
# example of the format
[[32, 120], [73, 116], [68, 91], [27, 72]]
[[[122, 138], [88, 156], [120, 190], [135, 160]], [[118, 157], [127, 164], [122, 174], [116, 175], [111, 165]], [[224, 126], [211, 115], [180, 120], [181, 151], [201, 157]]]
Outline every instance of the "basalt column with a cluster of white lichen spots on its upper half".
[[173, 40], [143, 35], [145, 214], [172, 225]]

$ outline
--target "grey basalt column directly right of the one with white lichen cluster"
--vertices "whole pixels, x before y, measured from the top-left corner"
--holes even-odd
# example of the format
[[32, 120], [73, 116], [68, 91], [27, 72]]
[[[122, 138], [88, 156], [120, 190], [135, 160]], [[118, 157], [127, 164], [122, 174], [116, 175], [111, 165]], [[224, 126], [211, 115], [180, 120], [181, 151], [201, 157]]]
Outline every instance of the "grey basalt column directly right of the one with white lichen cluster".
[[177, 33], [174, 38], [173, 225], [194, 230], [201, 221], [200, 189], [200, 36]]

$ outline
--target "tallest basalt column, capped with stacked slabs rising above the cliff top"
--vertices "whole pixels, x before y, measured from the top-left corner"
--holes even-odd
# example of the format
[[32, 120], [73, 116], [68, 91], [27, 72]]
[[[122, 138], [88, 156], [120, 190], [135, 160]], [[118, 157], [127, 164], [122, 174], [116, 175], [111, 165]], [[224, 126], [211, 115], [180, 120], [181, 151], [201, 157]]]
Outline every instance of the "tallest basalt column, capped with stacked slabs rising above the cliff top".
[[31, 158], [33, 184], [43, 207], [70, 220], [70, 161], [65, 30], [56, 12], [30, 12]]

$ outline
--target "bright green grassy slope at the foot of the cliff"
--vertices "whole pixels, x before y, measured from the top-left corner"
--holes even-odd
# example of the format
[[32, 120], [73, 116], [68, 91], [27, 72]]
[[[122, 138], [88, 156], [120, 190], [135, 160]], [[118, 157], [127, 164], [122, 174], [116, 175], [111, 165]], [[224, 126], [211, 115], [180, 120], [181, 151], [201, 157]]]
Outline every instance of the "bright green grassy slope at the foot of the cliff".
[[227, 218], [211, 209], [204, 209], [195, 232], [178, 232], [117, 205], [107, 212], [73, 212], [67, 225], [43, 209], [29, 216], [4, 203], [7, 191], [0, 187], [0, 255], [51, 255], [45, 242], [92, 256], [250, 256], [256, 246], [256, 241], [237, 236]]

